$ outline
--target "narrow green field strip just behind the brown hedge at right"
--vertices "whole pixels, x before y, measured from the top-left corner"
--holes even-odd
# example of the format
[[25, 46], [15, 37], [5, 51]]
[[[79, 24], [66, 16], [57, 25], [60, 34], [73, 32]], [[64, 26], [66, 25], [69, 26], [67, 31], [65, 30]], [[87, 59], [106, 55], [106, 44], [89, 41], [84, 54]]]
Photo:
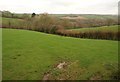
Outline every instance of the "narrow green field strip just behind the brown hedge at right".
[[79, 28], [79, 29], [70, 29], [80, 32], [88, 32], [88, 31], [118, 31], [119, 25], [113, 26], [101, 26], [101, 27], [94, 27], [94, 28]]

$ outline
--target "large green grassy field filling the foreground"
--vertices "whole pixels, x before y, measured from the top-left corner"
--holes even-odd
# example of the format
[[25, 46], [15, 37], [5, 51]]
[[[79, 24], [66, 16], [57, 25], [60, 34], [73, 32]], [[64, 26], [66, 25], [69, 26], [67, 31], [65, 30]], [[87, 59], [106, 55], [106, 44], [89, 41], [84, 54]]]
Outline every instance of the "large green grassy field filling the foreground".
[[[35, 31], [3, 29], [3, 80], [111, 79], [117, 71], [118, 42], [77, 39]], [[64, 69], [55, 65], [68, 62]]]

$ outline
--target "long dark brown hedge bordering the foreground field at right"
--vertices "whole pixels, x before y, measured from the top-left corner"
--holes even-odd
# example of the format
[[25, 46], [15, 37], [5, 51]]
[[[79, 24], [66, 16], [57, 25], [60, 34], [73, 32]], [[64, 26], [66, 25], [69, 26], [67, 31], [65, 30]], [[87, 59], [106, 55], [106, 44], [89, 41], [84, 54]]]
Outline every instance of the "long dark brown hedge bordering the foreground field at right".
[[58, 35], [70, 36], [76, 38], [89, 38], [89, 39], [106, 39], [106, 40], [119, 40], [120, 31], [89, 31], [89, 32], [77, 32], [70, 30], [58, 30]]

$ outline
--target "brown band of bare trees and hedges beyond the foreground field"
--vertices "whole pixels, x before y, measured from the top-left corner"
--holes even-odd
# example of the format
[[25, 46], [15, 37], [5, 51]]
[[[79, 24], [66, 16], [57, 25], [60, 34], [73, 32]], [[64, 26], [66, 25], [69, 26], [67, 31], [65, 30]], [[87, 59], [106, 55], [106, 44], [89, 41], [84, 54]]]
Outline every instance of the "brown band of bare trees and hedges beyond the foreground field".
[[[27, 18], [27, 17], [26, 17]], [[72, 22], [71, 22], [72, 21]], [[105, 22], [107, 21], [107, 22]], [[101, 21], [97, 19], [87, 20], [67, 20], [43, 13], [37, 16], [35, 13], [30, 18], [19, 21], [8, 21], [4, 23], [3, 28], [15, 28], [15, 29], [27, 29], [39, 32], [45, 32], [50, 34], [57, 34], [61, 36], [70, 36], [76, 38], [90, 38], [90, 39], [107, 39], [107, 40], [119, 40], [119, 31], [89, 31], [89, 32], [78, 32], [70, 31], [66, 29], [78, 28], [78, 27], [91, 27], [91, 26], [102, 26], [102, 25], [114, 25], [118, 24], [115, 20]], [[113, 22], [114, 21], [114, 22]], [[77, 23], [78, 22], [78, 23]], [[93, 23], [94, 22], [94, 23]], [[106, 23], [106, 24], [105, 24]], [[76, 26], [78, 24], [78, 26]], [[91, 25], [91, 26], [87, 26]]]

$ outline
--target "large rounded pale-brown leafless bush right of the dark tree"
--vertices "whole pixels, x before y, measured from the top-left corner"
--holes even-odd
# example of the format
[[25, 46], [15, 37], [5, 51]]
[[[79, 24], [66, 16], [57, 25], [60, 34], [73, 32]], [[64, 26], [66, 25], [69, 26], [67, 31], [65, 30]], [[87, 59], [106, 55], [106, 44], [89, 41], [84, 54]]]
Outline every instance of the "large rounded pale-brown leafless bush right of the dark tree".
[[54, 16], [44, 13], [32, 18], [31, 26], [32, 29], [36, 31], [55, 33], [57, 29], [57, 19]]

